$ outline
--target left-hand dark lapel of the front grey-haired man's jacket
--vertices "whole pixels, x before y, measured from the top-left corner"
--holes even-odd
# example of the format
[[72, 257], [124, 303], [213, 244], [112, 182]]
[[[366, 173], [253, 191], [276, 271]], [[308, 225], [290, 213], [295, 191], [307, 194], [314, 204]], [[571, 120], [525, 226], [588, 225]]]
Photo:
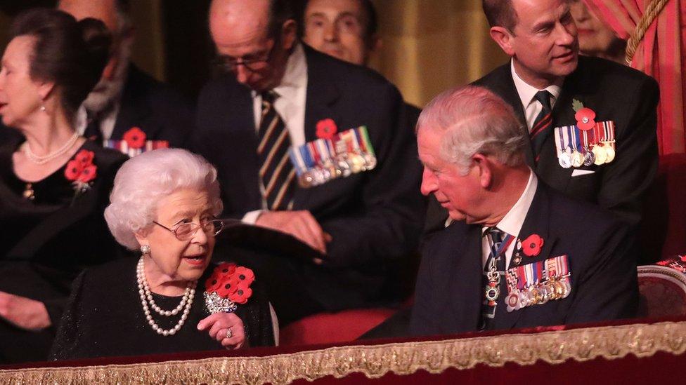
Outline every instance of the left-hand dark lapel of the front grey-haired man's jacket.
[[[458, 226], [467, 225], [455, 223], [448, 229]], [[481, 282], [481, 227], [471, 225], [462, 234], [464, 238], [458, 241], [459, 247], [448, 250], [457, 256], [450, 273], [451, 286], [448, 293], [451, 298], [455, 332], [471, 332], [477, 330], [481, 323], [481, 301], [484, 299]]]

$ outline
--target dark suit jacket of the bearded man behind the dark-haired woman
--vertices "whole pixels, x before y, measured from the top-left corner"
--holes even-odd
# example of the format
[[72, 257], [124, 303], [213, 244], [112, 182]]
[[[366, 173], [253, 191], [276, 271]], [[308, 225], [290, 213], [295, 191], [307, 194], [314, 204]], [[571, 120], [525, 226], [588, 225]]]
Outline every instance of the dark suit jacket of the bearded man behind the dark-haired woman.
[[135, 65], [129, 66], [110, 139], [122, 140], [124, 133], [138, 127], [147, 140], [167, 140], [170, 147], [186, 147], [194, 123], [193, 105], [185, 97]]

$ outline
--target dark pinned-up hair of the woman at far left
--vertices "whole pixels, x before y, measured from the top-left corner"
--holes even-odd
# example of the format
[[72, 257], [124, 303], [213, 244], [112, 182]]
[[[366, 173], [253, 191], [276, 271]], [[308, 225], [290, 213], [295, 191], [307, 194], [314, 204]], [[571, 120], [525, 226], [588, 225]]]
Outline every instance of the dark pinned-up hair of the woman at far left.
[[77, 22], [52, 8], [34, 8], [15, 18], [11, 38], [33, 36], [32, 79], [51, 81], [61, 91], [62, 107], [72, 117], [101, 78], [112, 38], [100, 20]]

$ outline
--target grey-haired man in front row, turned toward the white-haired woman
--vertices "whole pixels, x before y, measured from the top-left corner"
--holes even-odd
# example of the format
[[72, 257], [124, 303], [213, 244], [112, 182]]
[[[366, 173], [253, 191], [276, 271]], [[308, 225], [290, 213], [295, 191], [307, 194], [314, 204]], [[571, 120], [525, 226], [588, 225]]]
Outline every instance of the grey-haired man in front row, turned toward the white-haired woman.
[[525, 149], [512, 108], [486, 88], [448, 90], [422, 112], [422, 194], [433, 194], [454, 222], [425, 245], [411, 333], [635, 315], [627, 225], [547, 187]]

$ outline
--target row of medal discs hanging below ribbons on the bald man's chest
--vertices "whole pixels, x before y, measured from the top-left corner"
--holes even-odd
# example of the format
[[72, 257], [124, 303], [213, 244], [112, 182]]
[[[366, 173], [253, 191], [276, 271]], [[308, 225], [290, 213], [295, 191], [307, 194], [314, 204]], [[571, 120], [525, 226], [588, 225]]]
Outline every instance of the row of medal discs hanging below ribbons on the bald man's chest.
[[327, 159], [321, 165], [304, 171], [298, 182], [302, 187], [314, 187], [337, 177], [348, 177], [376, 167], [376, 156], [368, 152], [344, 152], [335, 158]]

